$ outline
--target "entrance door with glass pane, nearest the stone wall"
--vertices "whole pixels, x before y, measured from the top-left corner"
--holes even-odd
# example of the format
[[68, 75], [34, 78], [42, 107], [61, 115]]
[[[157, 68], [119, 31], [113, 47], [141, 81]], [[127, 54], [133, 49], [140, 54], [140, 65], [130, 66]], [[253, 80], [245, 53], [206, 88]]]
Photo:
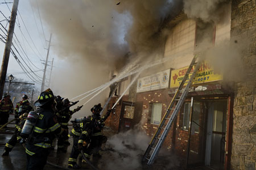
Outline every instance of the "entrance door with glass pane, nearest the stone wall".
[[209, 103], [205, 165], [224, 169], [227, 101]]

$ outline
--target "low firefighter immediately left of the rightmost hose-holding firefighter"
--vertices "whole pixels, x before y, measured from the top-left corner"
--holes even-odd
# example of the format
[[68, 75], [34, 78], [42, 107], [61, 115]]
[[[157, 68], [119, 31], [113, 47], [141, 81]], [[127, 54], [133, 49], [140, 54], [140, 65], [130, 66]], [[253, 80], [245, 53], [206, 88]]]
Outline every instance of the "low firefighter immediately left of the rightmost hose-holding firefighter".
[[83, 131], [92, 129], [92, 126], [93, 126], [92, 120], [93, 118], [89, 116], [89, 117], [84, 117], [80, 123], [79, 122], [77, 123], [76, 121], [72, 121], [73, 129], [71, 132], [69, 132], [69, 136], [72, 136], [73, 138], [73, 146], [72, 146], [71, 155], [69, 156], [69, 159], [68, 159], [68, 168], [80, 168], [80, 165], [77, 164], [77, 157], [80, 154], [78, 142]]

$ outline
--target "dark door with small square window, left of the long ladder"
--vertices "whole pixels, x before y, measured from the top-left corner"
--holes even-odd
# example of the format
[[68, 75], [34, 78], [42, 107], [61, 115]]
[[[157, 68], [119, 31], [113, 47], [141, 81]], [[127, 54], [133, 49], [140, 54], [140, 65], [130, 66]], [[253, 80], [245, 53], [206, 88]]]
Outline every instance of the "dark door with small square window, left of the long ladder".
[[141, 121], [143, 102], [123, 101], [118, 132], [127, 131]]

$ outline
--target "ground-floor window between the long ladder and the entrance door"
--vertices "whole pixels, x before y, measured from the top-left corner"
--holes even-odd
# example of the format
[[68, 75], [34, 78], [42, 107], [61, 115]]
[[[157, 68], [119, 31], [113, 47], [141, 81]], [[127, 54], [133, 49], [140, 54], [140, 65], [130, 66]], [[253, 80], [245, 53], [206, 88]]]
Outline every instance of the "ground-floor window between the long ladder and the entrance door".
[[[181, 122], [180, 127], [183, 130], [188, 130], [189, 128], [189, 118], [190, 118], [190, 109], [191, 109], [191, 103], [184, 103], [184, 113], [183, 113], [183, 122]], [[194, 102], [193, 103], [193, 117], [192, 117], [192, 131], [193, 132], [199, 132], [199, 115], [201, 111], [201, 105], [200, 102]], [[182, 113], [181, 113], [182, 114]]]

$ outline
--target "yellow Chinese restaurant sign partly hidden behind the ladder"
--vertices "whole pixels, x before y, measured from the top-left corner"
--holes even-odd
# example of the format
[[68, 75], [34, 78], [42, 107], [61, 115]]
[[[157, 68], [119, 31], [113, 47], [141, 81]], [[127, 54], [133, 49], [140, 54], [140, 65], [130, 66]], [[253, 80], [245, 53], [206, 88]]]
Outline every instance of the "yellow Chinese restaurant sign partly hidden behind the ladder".
[[[195, 65], [191, 69], [191, 73], [189, 74], [187, 80], [189, 80], [189, 78], [191, 77], [193, 69], [195, 69]], [[188, 70], [188, 67], [184, 67], [184, 68], [173, 70], [171, 72], [171, 85], [170, 85], [171, 88], [179, 87], [180, 82], [183, 80], [183, 77], [185, 76], [185, 73], [187, 72], [187, 70]], [[214, 73], [214, 69], [212, 68], [212, 66], [209, 63], [207, 63], [207, 61], [204, 61], [201, 64], [199, 71], [196, 73], [193, 84], [201, 84], [205, 82], [218, 81], [222, 79], [223, 79], [223, 75], [219, 73]], [[184, 85], [187, 85], [187, 83], [185, 83]]]

